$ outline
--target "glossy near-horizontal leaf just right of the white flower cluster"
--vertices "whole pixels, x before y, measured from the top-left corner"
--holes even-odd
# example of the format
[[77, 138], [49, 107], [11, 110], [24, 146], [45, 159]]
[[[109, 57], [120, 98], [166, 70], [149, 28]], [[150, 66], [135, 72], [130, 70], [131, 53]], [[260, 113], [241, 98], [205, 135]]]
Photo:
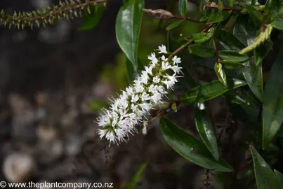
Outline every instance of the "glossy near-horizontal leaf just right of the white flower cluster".
[[205, 102], [214, 97], [227, 92], [228, 90], [235, 89], [246, 85], [243, 80], [227, 79], [227, 85], [223, 85], [220, 80], [213, 80], [210, 83], [199, 85], [192, 90], [186, 92], [183, 97], [180, 97], [180, 101], [185, 104], [195, 104], [197, 102]]

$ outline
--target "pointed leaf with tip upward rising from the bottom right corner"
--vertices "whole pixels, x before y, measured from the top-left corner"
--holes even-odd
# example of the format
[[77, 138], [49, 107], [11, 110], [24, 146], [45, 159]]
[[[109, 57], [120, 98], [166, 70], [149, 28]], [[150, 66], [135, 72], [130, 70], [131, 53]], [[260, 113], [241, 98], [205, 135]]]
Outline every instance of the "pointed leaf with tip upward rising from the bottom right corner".
[[256, 176], [258, 189], [282, 188], [274, 172], [272, 172], [268, 163], [263, 160], [254, 146], [251, 146], [251, 155], [254, 160], [254, 175]]

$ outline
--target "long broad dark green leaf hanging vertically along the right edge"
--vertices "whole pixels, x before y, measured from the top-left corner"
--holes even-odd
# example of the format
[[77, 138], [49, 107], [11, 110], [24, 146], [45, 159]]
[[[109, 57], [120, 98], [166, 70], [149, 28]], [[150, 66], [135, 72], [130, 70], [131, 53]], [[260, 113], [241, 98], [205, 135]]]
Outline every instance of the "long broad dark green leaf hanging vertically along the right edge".
[[283, 54], [279, 52], [265, 83], [263, 96], [263, 149], [268, 147], [283, 123], [282, 61]]

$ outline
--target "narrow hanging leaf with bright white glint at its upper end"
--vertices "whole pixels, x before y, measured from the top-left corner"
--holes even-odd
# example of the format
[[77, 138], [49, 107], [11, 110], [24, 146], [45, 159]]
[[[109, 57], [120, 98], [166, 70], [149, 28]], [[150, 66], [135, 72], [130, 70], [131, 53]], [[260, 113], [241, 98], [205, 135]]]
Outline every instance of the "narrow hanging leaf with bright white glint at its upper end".
[[195, 106], [195, 124], [199, 136], [204, 141], [205, 146], [209, 149], [211, 154], [216, 160], [219, 160], [218, 147], [211, 121], [206, 113], [206, 107], [204, 103], [197, 103]]

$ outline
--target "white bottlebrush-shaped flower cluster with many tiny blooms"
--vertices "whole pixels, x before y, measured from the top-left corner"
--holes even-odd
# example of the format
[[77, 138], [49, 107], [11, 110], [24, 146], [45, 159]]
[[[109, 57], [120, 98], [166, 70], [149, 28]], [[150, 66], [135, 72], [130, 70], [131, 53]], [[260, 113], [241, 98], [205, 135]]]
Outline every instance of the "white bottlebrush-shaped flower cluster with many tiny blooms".
[[177, 82], [182, 69], [178, 64], [180, 58], [174, 56], [172, 59], [166, 58], [168, 54], [166, 46], [159, 46], [159, 54], [162, 57], [157, 58], [152, 52], [148, 59], [150, 65], [145, 66], [140, 76], [133, 81], [133, 85], [126, 88], [114, 99], [110, 110], [104, 110], [104, 114], [98, 118], [98, 130], [100, 139], [105, 137], [110, 144], [119, 144], [126, 141], [129, 134], [137, 132], [136, 125], [143, 122], [143, 118], [149, 113], [153, 106], [162, 103], [162, 97], [166, 90], [173, 90], [173, 85]]

